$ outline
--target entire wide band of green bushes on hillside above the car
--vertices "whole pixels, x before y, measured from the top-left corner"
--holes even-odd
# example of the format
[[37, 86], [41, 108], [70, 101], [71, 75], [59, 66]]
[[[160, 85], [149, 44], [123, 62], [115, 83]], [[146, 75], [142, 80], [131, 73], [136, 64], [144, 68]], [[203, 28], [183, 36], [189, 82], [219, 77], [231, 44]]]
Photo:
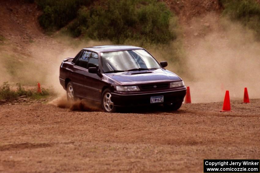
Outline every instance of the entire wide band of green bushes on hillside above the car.
[[129, 39], [165, 44], [176, 38], [176, 32], [169, 28], [173, 14], [164, 2], [157, 0], [36, 2], [43, 10], [39, 23], [46, 30], [68, 24], [68, 31], [74, 37], [108, 39], [116, 44]]

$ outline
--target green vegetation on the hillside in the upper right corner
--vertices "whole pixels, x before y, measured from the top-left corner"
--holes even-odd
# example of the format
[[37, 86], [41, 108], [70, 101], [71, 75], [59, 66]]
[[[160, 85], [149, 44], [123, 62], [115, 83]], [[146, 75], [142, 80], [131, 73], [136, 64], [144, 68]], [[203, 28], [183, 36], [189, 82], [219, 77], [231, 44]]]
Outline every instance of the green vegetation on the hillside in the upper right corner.
[[255, 0], [221, 0], [223, 14], [256, 32], [260, 38], [260, 4]]

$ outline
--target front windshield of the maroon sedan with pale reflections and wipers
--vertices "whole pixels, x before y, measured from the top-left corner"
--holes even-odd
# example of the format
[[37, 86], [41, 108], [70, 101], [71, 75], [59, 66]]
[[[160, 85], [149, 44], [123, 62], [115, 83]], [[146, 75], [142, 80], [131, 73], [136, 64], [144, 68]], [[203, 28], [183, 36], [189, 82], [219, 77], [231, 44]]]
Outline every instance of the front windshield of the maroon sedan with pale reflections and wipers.
[[158, 62], [143, 49], [103, 52], [102, 63], [104, 73], [161, 68]]

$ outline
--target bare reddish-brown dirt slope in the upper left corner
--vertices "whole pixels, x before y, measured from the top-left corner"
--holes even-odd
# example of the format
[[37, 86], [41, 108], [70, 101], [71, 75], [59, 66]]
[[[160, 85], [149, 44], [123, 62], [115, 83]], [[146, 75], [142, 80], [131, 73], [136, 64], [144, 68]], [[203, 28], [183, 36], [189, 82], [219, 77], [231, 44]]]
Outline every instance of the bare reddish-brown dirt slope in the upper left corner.
[[28, 51], [30, 42], [45, 35], [38, 23], [40, 11], [36, 4], [17, 0], [0, 2], [0, 34], [19, 51]]

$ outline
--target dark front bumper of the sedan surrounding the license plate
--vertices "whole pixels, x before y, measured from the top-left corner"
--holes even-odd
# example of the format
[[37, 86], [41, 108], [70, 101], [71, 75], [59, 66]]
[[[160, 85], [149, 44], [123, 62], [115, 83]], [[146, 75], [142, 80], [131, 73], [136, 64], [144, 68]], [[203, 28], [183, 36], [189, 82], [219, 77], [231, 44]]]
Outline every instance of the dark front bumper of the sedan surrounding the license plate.
[[[151, 93], [118, 94], [112, 93], [114, 106], [145, 106], [154, 104], [169, 104], [183, 101], [186, 88], [174, 91], [158, 91]], [[164, 96], [163, 103], [150, 103], [151, 96]]]

